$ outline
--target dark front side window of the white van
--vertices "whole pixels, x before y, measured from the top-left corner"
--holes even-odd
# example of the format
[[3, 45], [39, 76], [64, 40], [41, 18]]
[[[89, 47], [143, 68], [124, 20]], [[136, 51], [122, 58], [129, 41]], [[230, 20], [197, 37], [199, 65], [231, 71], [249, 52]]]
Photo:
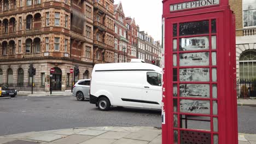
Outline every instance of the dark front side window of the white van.
[[153, 86], [162, 86], [162, 75], [159, 73], [148, 72], [147, 81], [150, 85]]

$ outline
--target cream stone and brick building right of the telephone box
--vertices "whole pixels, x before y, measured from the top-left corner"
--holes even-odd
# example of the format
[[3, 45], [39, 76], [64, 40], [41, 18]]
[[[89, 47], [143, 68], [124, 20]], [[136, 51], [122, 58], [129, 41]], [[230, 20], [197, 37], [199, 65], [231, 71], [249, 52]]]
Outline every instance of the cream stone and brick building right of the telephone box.
[[229, 0], [236, 16], [237, 79], [256, 79], [256, 0]]

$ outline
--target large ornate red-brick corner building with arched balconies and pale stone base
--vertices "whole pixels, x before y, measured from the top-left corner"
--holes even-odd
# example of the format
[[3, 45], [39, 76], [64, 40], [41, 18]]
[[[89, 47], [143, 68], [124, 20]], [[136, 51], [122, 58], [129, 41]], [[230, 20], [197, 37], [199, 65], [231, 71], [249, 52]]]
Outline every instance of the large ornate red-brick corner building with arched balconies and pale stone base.
[[71, 87], [69, 69], [79, 66], [76, 79], [89, 78], [94, 63], [113, 62], [112, 0], [0, 0], [0, 83], [31, 87], [28, 68], [36, 68], [34, 85], [49, 91]]

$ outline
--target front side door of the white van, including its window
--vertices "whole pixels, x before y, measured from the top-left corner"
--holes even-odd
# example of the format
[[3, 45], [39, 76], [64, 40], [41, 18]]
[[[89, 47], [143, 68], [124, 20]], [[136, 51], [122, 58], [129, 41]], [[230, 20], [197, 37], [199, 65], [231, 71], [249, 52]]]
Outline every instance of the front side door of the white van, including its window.
[[156, 72], [147, 72], [147, 84], [144, 86], [146, 88], [146, 95], [143, 100], [144, 107], [161, 109], [162, 101], [162, 83], [161, 74]]

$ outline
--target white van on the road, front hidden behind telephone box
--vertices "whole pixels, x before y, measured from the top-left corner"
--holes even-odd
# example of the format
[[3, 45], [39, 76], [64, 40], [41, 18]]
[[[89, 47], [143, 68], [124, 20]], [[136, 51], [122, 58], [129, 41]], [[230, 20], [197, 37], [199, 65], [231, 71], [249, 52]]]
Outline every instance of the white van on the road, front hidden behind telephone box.
[[96, 64], [90, 103], [102, 111], [110, 106], [161, 109], [162, 69], [148, 63]]

